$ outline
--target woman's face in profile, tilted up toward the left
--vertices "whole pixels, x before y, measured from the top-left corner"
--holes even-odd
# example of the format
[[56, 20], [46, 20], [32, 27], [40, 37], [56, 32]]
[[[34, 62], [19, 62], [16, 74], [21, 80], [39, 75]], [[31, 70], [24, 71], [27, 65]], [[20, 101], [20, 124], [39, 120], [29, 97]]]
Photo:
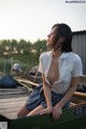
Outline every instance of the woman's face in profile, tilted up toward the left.
[[51, 30], [51, 34], [47, 35], [47, 48], [52, 49], [53, 48], [53, 44], [56, 42], [56, 39], [57, 39], [57, 27], [54, 27], [52, 30]]

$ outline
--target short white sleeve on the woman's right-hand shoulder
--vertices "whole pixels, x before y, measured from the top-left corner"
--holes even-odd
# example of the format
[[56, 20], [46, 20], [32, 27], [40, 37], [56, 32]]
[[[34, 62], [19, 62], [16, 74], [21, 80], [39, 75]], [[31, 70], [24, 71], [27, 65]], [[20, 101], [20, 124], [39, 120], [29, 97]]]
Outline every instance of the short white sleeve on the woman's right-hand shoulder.
[[82, 76], [82, 75], [83, 75], [82, 60], [80, 56], [77, 56], [73, 64], [72, 76], [77, 77], [77, 76]]

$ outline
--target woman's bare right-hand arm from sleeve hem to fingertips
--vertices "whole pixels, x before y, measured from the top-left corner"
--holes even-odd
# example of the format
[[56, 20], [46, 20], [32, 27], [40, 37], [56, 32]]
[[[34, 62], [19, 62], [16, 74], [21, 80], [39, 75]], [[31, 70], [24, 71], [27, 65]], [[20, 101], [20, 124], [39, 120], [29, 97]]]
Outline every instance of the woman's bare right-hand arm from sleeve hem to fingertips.
[[64, 96], [61, 99], [61, 101], [56, 106], [54, 106], [53, 112], [52, 112], [54, 119], [59, 118], [59, 116], [61, 115], [62, 107], [70, 100], [70, 98], [73, 95], [74, 91], [77, 88], [78, 80], [80, 80], [80, 77], [72, 78], [71, 85], [70, 85], [68, 91], [66, 92]]

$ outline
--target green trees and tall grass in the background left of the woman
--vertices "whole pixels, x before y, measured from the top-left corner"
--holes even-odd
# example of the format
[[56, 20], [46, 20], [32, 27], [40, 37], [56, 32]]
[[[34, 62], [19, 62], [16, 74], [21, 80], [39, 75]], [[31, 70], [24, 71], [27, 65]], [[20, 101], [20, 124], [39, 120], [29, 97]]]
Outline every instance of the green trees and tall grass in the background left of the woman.
[[24, 72], [39, 65], [40, 54], [46, 51], [46, 40], [34, 43], [20, 39], [19, 41], [0, 40], [0, 72], [11, 73], [14, 63], [19, 63]]

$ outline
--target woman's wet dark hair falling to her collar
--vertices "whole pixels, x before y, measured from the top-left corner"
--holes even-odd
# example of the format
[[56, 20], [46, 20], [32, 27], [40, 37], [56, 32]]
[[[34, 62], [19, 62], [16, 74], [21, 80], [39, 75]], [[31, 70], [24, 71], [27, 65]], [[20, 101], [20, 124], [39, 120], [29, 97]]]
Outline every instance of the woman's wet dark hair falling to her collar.
[[[67, 24], [55, 24], [52, 29], [54, 27], [57, 27], [57, 40], [60, 37], [64, 37], [66, 40], [62, 42], [62, 47], [61, 47], [61, 52], [72, 52], [72, 30], [71, 28], [67, 25]], [[56, 42], [54, 43], [54, 46], [56, 44]], [[58, 49], [58, 48], [57, 48]]]

